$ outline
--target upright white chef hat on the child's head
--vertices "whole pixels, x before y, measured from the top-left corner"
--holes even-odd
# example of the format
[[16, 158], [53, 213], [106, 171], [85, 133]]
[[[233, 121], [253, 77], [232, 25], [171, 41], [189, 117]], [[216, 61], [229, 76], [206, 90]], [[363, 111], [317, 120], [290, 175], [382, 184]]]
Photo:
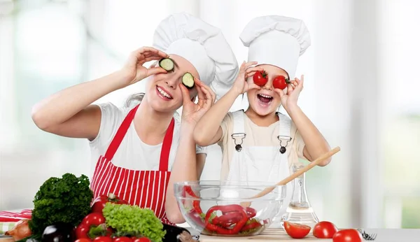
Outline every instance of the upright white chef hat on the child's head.
[[248, 62], [277, 66], [290, 79], [295, 78], [297, 59], [311, 45], [302, 20], [277, 15], [255, 17], [239, 38], [248, 47]]

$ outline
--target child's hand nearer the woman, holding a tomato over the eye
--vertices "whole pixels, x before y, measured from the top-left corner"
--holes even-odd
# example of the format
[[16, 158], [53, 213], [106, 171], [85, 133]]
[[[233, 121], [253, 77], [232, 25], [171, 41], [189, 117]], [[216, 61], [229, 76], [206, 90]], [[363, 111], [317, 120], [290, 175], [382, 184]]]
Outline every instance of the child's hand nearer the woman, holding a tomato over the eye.
[[249, 67], [257, 64], [257, 62], [242, 62], [241, 67], [239, 68], [239, 74], [235, 83], [233, 83], [232, 91], [236, 92], [238, 95], [248, 92], [251, 89], [261, 89], [260, 86], [255, 85], [255, 83], [248, 83], [246, 80], [253, 76], [257, 71], [263, 71], [261, 67]]

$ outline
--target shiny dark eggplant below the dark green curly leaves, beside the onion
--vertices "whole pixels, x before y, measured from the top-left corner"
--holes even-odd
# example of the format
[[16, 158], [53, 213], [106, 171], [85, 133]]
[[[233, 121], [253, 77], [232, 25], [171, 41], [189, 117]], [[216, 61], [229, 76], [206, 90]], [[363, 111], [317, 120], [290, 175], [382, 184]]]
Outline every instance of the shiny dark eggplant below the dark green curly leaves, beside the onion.
[[44, 229], [42, 242], [73, 242], [76, 241], [73, 225], [57, 223]]

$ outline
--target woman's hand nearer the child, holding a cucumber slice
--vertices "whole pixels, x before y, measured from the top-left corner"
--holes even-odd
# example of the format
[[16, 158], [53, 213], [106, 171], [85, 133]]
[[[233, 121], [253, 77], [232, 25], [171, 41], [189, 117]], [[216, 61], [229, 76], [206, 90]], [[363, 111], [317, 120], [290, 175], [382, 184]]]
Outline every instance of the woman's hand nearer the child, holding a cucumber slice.
[[210, 87], [202, 83], [201, 80], [194, 78], [195, 87], [197, 88], [198, 102], [194, 103], [194, 100], [190, 98], [190, 92], [186, 86], [182, 83], [179, 83], [181, 87], [182, 97], [183, 97], [183, 106], [182, 106], [182, 122], [187, 122], [189, 124], [197, 124], [197, 122], [202, 118], [204, 113], [209, 111], [211, 106], [213, 106], [214, 101], [216, 101], [216, 94], [211, 90]]

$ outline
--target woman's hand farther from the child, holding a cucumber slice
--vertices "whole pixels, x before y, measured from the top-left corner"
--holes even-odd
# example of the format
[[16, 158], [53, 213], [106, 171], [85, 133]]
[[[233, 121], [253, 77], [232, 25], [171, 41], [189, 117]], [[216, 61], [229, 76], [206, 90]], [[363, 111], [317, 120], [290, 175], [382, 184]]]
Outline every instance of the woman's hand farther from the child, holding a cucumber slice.
[[166, 53], [152, 47], [142, 47], [131, 52], [123, 69], [120, 70], [125, 77], [124, 87], [137, 83], [139, 80], [143, 80], [151, 75], [167, 73], [160, 66], [151, 66], [150, 68], [143, 66], [146, 62], [159, 60], [167, 56]]

